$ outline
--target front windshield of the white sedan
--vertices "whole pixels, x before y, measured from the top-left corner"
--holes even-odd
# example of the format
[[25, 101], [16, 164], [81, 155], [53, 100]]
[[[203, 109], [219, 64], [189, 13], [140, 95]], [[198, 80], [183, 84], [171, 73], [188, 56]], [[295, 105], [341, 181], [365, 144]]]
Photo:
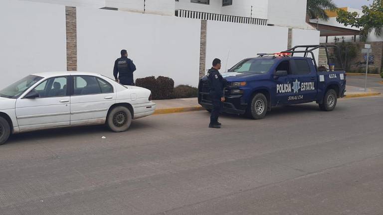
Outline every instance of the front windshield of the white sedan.
[[40, 81], [41, 79], [42, 77], [40, 76], [29, 75], [9, 85], [8, 87], [0, 90], [0, 97], [10, 98], [10, 99], [17, 98], [22, 93], [24, 93], [28, 88], [36, 84], [36, 82]]

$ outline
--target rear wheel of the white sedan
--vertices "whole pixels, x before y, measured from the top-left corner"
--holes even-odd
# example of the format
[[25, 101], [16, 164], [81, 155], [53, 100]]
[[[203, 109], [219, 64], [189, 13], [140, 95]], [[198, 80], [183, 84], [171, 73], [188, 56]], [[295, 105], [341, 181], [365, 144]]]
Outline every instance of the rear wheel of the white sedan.
[[114, 132], [126, 131], [132, 123], [132, 113], [128, 108], [118, 106], [109, 112], [106, 123]]

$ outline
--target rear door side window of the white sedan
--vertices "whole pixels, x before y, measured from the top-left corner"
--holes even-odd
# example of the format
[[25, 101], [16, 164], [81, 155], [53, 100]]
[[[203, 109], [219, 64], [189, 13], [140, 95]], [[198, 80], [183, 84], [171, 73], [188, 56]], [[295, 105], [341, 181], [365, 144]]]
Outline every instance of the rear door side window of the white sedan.
[[100, 85], [94, 76], [75, 76], [74, 95], [101, 94]]

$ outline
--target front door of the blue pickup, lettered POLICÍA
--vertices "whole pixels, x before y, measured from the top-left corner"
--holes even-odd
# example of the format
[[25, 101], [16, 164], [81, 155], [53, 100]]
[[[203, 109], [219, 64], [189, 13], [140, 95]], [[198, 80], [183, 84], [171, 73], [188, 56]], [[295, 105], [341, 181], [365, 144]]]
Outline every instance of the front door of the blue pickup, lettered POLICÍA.
[[279, 62], [278, 66], [274, 71], [274, 73], [276, 73], [277, 71], [287, 71], [287, 75], [275, 76], [276, 105], [290, 104], [289, 99], [291, 99], [295, 95], [292, 87], [293, 81], [295, 81], [297, 77], [292, 74], [290, 62], [290, 59], [282, 60], [281, 62]]

